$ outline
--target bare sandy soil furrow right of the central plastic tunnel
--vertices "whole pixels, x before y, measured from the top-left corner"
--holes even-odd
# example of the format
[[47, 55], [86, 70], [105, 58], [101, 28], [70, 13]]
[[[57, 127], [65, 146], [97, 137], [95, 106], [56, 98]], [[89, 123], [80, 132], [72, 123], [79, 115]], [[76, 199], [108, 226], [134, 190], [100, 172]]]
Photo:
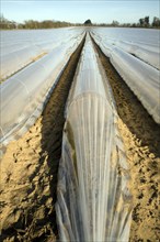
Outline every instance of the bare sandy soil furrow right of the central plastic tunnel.
[[129, 241], [159, 241], [160, 125], [148, 114], [95, 42], [94, 45], [113, 90], [119, 116], [118, 129], [130, 167], [134, 210]]

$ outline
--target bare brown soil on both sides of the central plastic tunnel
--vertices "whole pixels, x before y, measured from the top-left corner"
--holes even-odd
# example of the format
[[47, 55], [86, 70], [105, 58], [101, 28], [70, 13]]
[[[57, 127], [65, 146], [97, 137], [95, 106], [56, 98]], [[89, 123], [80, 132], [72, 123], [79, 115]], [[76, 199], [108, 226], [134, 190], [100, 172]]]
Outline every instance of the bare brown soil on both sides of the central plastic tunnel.
[[[4, 242], [58, 238], [56, 226], [57, 172], [61, 154], [64, 111], [83, 42], [72, 54], [36, 123], [8, 145], [1, 161], [0, 215]], [[118, 128], [130, 165], [133, 220], [130, 241], [158, 241], [158, 164], [160, 127], [98, 48], [113, 89]]]

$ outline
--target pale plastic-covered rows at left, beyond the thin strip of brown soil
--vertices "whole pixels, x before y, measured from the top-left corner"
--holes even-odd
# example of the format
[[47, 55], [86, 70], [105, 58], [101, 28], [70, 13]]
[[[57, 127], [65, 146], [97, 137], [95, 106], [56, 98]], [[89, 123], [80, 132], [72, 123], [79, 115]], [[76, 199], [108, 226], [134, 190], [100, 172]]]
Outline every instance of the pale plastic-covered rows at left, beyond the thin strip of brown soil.
[[[4, 43], [5, 38], [1, 37], [1, 72], [0, 79], [3, 80], [9, 76], [13, 75], [18, 70], [22, 69], [27, 64], [36, 61], [42, 55], [52, 52], [54, 48], [62, 45], [71, 41], [72, 38], [77, 38], [78, 35], [82, 34], [83, 29], [71, 30], [65, 29], [62, 30], [52, 30], [52, 31], [31, 31], [31, 37], [24, 41], [24, 36], [27, 34], [27, 31], [23, 33], [23, 31], [14, 32], [13, 43], [12, 38], [8, 44]], [[24, 36], [23, 36], [23, 34]], [[2, 33], [3, 36], [4, 33]], [[11, 33], [12, 34], [12, 33]], [[37, 36], [38, 38], [37, 38]], [[41, 35], [42, 35], [42, 38]], [[56, 35], [57, 34], [57, 35]], [[44, 36], [45, 37], [44, 37]], [[5, 36], [5, 35], [4, 35]], [[27, 36], [27, 35], [26, 35]], [[35, 40], [33, 38], [35, 36]], [[8, 37], [8, 34], [7, 36]], [[10, 37], [10, 36], [9, 36]]]

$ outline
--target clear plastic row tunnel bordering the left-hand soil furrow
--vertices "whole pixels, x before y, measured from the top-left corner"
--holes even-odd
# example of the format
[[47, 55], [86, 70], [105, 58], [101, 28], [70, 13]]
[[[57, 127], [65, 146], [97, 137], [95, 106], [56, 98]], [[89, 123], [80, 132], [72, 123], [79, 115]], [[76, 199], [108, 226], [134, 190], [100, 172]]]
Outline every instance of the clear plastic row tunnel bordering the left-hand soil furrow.
[[[19, 72], [1, 85], [0, 141], [5, 145], [26, 125], [32, 125], [70, 55], [84, 34], [55, 48], [50, 54]], [[21, 130], [21, 128], [23, 128]], [[22, 132], [23, 133], [23, 132]]]

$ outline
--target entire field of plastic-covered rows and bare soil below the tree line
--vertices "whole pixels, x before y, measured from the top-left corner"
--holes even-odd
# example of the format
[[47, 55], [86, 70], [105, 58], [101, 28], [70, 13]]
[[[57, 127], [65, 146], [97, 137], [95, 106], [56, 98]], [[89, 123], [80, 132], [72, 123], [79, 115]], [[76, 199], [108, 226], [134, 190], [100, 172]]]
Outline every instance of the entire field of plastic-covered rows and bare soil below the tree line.
[[159, 35], [1, 32], [1, 241], [159, 241]]

